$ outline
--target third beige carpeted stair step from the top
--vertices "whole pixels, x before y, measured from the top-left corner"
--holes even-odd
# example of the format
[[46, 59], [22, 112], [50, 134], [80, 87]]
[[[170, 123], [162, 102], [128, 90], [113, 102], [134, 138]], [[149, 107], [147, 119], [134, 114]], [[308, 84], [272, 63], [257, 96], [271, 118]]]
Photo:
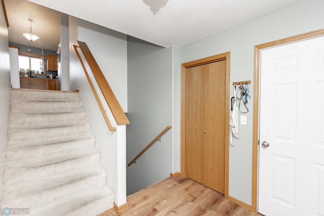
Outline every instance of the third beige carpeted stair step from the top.
[[84, 111], [73, 113], [9, 113], [9, 127], [57, 125], [71, 122], [86, 122]]

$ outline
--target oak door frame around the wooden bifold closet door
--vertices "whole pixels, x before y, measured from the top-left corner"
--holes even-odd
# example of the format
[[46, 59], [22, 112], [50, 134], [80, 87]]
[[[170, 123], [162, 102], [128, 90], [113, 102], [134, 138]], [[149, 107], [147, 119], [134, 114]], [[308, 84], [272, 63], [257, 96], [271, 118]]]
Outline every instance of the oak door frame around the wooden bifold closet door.
[[186, 123], [186, 68], [194, 67], [198, 65], [208, 64], [215, 61], [226, 60], [226, 69], [225, 69], [225, 185], [224, 185], [224, 197], [228, 199], [228, 173], [229, 173], [229, 68], [230, 68], [230, 52], [197, 59], [194, 61], [186, 62], [181, 64], [181, 177], [186, 176], [186, 130], [185, 130], [185, 123]]

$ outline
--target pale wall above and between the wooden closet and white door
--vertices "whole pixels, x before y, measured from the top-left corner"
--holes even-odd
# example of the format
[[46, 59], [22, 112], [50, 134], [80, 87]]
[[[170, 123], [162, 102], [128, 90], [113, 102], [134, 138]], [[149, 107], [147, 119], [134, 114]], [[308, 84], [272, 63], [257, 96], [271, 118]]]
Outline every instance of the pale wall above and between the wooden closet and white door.
[[[239, 125], [239, 138], [235, 146], [230, 147], [229, 155], [229, 196], [247, 204], [252, 203], [254, 46], [324, 28], [323, 8], [322, 0], [302, 1], [179, 48], [180, 63], [230, 51], [230, 83], [252, 81], [248, 102], [250, 112], [244, 114], [248, 124]], [[180, 98], [181, 94], [177, 88], [181, 85], [180, 74], [181, 66], [177, 64], [175, 98]], [[177, 100], [174, 107], [179, 109], [179, 103], [180, 100]], [[180, 121], [180, 115], [174, 118], [174, 121]], [[175, 136], [180, 137], [180, 133]], [[175, 160], [178, 157], [175, 155]]]

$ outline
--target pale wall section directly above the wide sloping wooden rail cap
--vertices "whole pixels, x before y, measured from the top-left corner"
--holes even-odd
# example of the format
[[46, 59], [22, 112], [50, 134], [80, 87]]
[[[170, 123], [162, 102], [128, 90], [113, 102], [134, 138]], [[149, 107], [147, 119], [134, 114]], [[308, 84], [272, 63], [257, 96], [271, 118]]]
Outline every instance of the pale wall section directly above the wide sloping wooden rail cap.
[[87, 43], [117, 100], [127, 113], [127, 35], [80, 19], [78, 26], [78, 41]]

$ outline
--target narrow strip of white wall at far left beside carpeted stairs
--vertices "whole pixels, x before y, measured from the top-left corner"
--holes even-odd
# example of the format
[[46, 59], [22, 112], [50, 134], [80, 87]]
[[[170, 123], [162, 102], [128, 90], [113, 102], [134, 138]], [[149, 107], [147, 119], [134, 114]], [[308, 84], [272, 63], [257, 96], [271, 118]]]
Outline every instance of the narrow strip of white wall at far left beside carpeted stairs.
[[[10, 99], [10, 59], [8, 28], [3, 8], [0, 6], [0, 200], [4, 184], [3, 173], [6, 165], [5, 149], [7, 146], [8, 113]], [[17, 73], [18, 74], [18, 73]]]

